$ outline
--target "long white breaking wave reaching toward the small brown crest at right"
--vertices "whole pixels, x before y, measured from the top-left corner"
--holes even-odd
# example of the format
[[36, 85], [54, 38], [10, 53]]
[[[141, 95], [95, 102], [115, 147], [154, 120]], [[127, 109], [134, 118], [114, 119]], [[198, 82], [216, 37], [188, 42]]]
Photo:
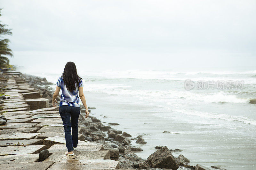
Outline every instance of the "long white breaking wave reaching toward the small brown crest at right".
[[109, 95], [129, 95], [131, 97], [140, 98], [142, 100], [156, 99], [157, 101], [168, 101], [170, 99], [197, 100], [205, 103], [249, 103], [251, 99], [238, 98], [234, 94], [226, 94], [224, 92], [215, 93], [193, 93], [189, 91], [152, 91], [152, 90], [128, 90], [128, 85], [123, 84], [90, 84], [85, 85], [84, 90], [89, 92], [101, 92]]

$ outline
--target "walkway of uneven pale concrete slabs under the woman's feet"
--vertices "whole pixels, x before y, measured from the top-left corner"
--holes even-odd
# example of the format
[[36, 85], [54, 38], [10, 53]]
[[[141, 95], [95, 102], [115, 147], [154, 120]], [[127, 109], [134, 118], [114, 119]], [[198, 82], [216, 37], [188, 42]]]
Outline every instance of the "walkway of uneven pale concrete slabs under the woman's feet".
[[[82, 134], [74, 148], [75, 155], [65, 155], [67, 148], [59, 107], [49, 108], [49, 100], [29, 86], [19, 72], [5, 75], [9, 79], [1, 112], [8, 112], [3, 113], [6, 124], [0, 125], [1, 169], [119, 169], [119, 162], [110, 159], [109, 151], [105, 151], [102, 144], [86, 141]], [[44, 149], [51, 155], [39, 162], [38, 153]]]

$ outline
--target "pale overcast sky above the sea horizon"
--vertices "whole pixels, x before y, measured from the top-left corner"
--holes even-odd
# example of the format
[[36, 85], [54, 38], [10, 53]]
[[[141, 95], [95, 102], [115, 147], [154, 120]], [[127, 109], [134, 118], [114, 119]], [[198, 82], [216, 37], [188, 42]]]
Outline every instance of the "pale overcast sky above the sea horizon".
[[[62, 70], [256, 66], [256, 1], [0, 0], [11, 64]], [[45, 70], [44, 70], [45, 71]]]

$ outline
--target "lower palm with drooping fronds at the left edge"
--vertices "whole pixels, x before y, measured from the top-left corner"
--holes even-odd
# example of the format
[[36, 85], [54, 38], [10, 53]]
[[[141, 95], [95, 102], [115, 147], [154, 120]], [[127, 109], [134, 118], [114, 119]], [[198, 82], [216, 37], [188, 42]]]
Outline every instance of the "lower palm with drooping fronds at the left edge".
[[4, 65], [9, 65], [9, 59], [4, 55], [12, 55], [12, 50], [8, 48], [8, 43], [10, 41], [8, 39], [4, 39], [0, 41], [0, 68], [2, 68]]

